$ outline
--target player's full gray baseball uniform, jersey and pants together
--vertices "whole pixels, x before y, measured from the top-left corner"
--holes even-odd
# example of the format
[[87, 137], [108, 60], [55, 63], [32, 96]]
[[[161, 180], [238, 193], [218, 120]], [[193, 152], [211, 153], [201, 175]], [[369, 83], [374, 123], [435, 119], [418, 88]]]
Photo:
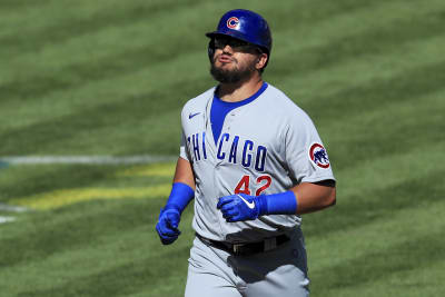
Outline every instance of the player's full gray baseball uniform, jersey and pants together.
[[[217, 141], [210, 121], [215, 88], [189, 100], [182, 109], [180, 157], [191, 164], [195, 172], [192, 227], [197, 234], [186, 296], [199, 296], [194, 294], [205, 288], [214, 296], [241, 296], [248, 291], [257, 294], [246, 296], [269, 296], [280, 291], [277, 286], [283, 293], [306, 296], [308, 278], [299, 216], [269, 215], [227, 222], [217, 209], [218, 198], [228, 195], [276, 194], [300, 182], [334, 180], [326, 150], [309, 117], [266, 82], [258, 92], [255, 100], [227, 113]], [[277, 236], [289, 240], [277, 246]], [[267, 250], [264, 244], [265, 251], [253, 255], [233, 255], [212, 245], [261, 240], [273, 240], [271, 248]], [[253, 277], [249, 271], [259, 275]], [[279, 280], [288, 281], [281, 288]]]

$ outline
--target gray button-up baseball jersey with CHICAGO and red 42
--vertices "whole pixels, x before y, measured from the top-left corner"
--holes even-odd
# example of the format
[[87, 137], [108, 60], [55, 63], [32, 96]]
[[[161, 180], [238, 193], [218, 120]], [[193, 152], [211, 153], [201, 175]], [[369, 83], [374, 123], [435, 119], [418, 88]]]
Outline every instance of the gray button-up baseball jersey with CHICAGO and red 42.
[[313, 121], [273, 86], [254, 101], [230, 111], [215, 143], [210, 107], [215, 88], [189, 100], [181, 112], [180, 157], [196, 178], [194, 229], [230, 242], [258, 241], [300, 225], [296, 215], [261, 216], [226, 222], [219, 197], [283, 192], [307, 181], [334, 179]]

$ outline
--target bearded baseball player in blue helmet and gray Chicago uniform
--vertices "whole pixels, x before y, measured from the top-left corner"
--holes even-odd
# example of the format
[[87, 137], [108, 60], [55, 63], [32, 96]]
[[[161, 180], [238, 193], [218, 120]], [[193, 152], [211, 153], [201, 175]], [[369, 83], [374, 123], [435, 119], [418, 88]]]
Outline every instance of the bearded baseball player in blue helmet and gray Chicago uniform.
[[157, 232], [174, 242], [195, 198], [186, 297], [308, 296], [300, 215], [335, 204], [326, 149], [309, 117], [261, 78], [271, 50], [261, 16], [228, 11], [206, 36], [219, 83], [182, 109]]

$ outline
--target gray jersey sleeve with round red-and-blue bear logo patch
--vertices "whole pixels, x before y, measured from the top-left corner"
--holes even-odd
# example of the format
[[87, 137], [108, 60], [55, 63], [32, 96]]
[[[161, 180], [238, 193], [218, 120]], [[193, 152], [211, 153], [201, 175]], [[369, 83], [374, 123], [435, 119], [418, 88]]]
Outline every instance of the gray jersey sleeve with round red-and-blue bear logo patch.
[[298, 110], [291, 117], [284, 138], [289, 175], [297, 184], [335, 180], [327, 151], [306, 112]]

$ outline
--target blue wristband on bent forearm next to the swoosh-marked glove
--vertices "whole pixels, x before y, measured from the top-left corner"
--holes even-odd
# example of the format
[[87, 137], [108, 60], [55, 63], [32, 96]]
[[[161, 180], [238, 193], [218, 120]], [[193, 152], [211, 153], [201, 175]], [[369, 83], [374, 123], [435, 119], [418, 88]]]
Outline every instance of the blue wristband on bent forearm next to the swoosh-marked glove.
[[297, 199], [291, 190], [258, 196], [260, 216], [264, 215], [295, 215], [297, 214]]

